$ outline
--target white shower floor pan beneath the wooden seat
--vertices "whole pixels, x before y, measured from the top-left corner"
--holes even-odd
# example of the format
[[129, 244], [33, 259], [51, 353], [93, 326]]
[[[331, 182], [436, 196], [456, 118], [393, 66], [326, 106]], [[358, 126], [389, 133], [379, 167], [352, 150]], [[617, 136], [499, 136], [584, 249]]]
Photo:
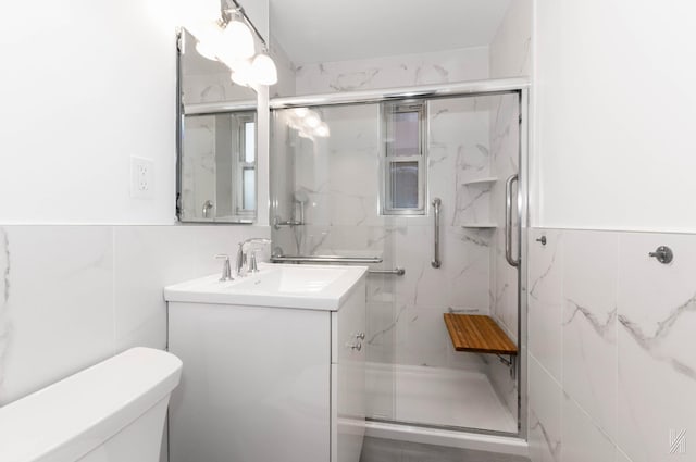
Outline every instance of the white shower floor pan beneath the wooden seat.
[[517, 433], [517, 420], [480, 371], [370, 364], [368, 416]]

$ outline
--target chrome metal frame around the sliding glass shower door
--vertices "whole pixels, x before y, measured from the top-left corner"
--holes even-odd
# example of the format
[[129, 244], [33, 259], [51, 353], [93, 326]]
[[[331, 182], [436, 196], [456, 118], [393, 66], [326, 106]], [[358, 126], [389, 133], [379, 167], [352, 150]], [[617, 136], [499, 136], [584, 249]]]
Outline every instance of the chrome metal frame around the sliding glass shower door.
[[[306, 97], [275, 98], [269, 101], [270, 110], [370, 104], [385, 101], [398, 101], [406, 99], [442, 99], [456, 97], [483, 97], [515, 93], [519, 103], [519, 172], [518, 172], [518, 252], [520, 264], [518, 266], [518, 432], [506, 433], [487, 430], [482, 428], [462, 428], [438, 425], [421, 425], [414, 423], [401, 423], [394, 420], [368, 419], [370, 422], [397, 425], [403, 428], [428, 428], [433, 430], [456, 432], [460, 434], [481, 434], [501, 437], [514, 437], [526, 440], [529, 433], [527, 422], [527, 227], [529, 227], [529, 143], [530, 143], [530, 88], [531, 84], [524, 78], [488, 79], [467, 83], [400, 87], [382, 90], [347, 91], [339, 93], [312, 95]], [[229, 103], [201, 104], [207, 113], [216, 112], [216, 109], [229, 111]]]

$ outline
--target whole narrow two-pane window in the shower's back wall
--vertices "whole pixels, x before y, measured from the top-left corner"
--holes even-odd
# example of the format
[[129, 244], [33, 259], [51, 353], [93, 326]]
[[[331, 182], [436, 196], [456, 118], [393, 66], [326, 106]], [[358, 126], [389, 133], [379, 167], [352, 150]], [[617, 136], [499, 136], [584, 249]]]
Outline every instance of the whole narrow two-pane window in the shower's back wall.
[[425, 213], [425, 101], [382, 104], [384, 162], [382, 213]]

